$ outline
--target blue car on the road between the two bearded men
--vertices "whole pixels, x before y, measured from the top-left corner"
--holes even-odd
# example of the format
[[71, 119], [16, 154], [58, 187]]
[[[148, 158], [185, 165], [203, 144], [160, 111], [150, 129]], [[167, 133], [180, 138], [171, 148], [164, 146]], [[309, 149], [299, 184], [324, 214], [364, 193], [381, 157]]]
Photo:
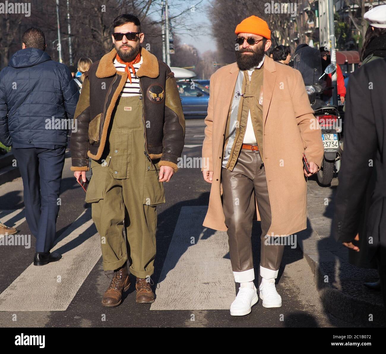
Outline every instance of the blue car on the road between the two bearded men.
[[191, 81], [178, 81], [177, 87], [185, 118], [205, 118], [208, 112], [209, 90]]

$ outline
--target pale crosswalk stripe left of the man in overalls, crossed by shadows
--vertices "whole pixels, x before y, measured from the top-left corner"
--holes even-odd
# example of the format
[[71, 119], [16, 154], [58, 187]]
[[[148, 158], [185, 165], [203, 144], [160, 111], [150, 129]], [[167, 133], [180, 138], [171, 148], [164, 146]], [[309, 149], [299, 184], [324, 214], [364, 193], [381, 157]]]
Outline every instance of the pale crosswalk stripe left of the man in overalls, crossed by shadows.
[[88, 208], [58, 238], [59, 262], [31, 264], [0, 294], [0, 311], [64, 311], [101, 257]]

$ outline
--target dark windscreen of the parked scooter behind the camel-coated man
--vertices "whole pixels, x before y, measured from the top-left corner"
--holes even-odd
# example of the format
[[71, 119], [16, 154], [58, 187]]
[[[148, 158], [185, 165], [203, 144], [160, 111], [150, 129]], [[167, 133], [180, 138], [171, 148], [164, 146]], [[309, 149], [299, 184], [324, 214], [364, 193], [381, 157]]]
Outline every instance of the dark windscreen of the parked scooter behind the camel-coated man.
[[300, 71], [305, 85], [318, 85], [322, 75], [322, 60], [318, 49], [306, 46], [295, 52], [293, 68]]

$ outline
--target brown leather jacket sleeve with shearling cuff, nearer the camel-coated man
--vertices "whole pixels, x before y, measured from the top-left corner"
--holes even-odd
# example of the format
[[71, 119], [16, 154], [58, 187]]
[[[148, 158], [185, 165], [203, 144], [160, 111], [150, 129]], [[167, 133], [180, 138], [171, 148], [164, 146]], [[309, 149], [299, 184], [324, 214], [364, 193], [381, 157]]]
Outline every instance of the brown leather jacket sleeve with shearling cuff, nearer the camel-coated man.
[[181, 157], [185, 142], [185, 118], [174, 73], [166, 75], [165, 120], [162, 157], [159, 166], [170, 166], [176, 172], [177, 159]]

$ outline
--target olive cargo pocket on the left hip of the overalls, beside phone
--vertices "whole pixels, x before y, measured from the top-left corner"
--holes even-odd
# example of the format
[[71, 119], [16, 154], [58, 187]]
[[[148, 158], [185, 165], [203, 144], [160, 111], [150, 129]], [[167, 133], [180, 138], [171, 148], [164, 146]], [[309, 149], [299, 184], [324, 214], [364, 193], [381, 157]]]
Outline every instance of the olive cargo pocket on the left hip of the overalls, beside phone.
[[108, 174], [108, 165], [111, 158], [100, 160], [101, 163], [91, 160], [92, 176], [86, 191], [86, 203], [97, 203], [105, 197], [105, 186]]

